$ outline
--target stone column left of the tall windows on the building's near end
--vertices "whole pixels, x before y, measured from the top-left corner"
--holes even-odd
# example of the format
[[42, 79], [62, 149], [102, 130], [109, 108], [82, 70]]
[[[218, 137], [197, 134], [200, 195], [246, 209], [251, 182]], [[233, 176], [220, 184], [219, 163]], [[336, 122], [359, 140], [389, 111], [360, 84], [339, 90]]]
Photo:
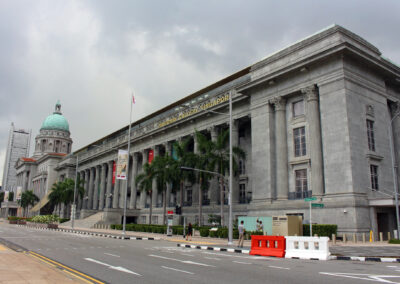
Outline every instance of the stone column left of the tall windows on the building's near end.
[[276, 187], [278, 200], [288, 198], [288, 156], [286, 130], [286, 100], [282, 97], [271, 100], [275, 106], [275, 138], [276, 138]]

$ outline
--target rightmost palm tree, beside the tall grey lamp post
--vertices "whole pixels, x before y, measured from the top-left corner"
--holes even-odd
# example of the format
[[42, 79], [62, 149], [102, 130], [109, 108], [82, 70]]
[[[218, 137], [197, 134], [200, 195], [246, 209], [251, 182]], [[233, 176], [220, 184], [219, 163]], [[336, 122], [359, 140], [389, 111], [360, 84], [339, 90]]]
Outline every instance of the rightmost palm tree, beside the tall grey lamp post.
[[[203, 152], [208, 159], [207, 170], [216, 171], [224, 176], [229, 173], [229, 130], [221, 132], [217, 140], [211, 141], [200, 132], [196, 132], [196, 138], [199, 143], [199, 150]], [[239, 147], [233, 147], [233, 170], [237, 172], [237, 158], [245, 158], [245, 152]], [[221, 225], [224, 225], [224, 179], [220, 176], [220, 214]], [[232, 189], [230, 189], [232, 190]]]

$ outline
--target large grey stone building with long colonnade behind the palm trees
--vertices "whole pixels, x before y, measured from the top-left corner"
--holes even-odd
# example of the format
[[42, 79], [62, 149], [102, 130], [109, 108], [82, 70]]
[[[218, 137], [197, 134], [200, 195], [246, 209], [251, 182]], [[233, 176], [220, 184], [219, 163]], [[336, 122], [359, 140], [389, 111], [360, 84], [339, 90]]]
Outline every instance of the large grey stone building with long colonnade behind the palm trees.
[[[338, 224], [339, 232], [392, 231], [396, 225], [392, 158], [400, 160], [400, 67], [356, 34], [337, 25], [305, 38], [132, 124], [128, 220], [161, 224], [162, 194], [153, 204], [134, 179], [149, 156], [171, 155], [172, 144], [196, 130], [210, 139], [228, 127], [233, 99], [233, 144], [243, 148], [235, 177], [233, 214], [302, 215], [305, 197], [324, 208], [313, 222]], [[80, 218], [97, 213], [99, 222], [121, 222], [125, 182], [112, 182], [116, 149], [127, 148], [128, 126], [65, 157], [59, 176], [86, 181]], [[394, 137], [391, 155], [390, 134]], [[190, 138], [191, 137], [191, 138]], [[396, 168], [395, 178], [399, 177]], [[183, 213], [198, 221], [198, 185], [186, 184]], [[169, 210], [179, 192], [167, 191]], [[218, 185], [203, 193], [203, 223], [219, 214]], [[225, 214], [227, 217], [228, 208]], [[226, 219], [225, 217], [225, 219]], [[96, 222], [97, 222], [96, 221]]]

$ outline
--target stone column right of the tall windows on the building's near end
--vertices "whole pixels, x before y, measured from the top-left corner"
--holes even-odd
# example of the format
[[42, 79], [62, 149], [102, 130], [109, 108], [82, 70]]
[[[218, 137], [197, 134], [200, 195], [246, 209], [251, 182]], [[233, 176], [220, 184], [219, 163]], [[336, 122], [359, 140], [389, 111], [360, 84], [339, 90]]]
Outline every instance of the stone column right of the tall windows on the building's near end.
[[322, 161], [321, 121], [318, 90], [310, 86], [301, 90], [307, 98], [308, 137], [310, 137], [311, 190], [313, 195], [324, 193], [324, 170]]

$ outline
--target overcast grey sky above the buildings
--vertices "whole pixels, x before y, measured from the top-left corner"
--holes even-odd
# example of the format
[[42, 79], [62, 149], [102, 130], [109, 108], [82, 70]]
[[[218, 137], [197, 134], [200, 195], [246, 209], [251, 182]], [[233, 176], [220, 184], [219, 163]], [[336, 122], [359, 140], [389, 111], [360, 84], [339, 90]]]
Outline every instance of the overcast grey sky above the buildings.
[[[400, 64], [400, 1], [0, 1], [0, 184], [11, 122], [59, 99], [73, 150], [335, 23]], [[32, 150], [31, 150], [32, 154]]]

